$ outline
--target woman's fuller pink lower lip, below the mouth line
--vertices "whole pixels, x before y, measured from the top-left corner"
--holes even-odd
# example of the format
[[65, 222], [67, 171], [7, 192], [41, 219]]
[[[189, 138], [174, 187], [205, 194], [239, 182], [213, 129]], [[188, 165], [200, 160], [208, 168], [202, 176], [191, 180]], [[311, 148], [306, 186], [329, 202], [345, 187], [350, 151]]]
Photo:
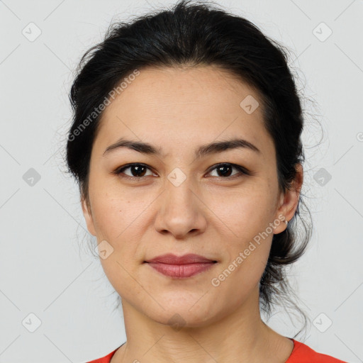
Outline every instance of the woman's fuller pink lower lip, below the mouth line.
[[147, 264], [165, 276], [184, 279], [210, 269], [216, 264], [216, 262], [194, 264], [162, 264], [160, 262], [147, 262]]

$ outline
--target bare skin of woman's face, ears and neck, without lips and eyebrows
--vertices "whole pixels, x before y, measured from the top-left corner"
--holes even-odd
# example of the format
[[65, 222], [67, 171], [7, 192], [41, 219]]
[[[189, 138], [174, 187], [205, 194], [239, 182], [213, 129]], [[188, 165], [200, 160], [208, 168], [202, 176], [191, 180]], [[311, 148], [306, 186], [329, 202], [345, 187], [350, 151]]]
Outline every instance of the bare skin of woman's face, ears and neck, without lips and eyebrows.
[[[282, 194], [262, 109], [248, 114], [240, 106], [248, 95], [259, 99], [218, 67], [148, 68], [106, 107], [91, 152], [90, 206], [81, 201], [89, 233], [113, 247], [101, 264], [122, 298], [127, 342], [111, 363], [283, 363], [289, 358], [294, 344], [262, 322], [258, 289], [273, 234], [286, 228], [276, 220], [291, 220], [298, 206], [303, 169], [297, 165], [295, 187]], [[121, 147], [103, 156], [121, 136], [161, 147], [164, 155]], [[261, 153], [239, 148], [194, 157], [200, 145], [236, 136]], [[252, 174], [232, 169], [223, 176], [213, 169], [223, 162]], [[128, 163], [148, 169], [142, 178], [134, 168], [113, 174]], [[179, 186], [167, 179], [176, 167], [186, 177]], [[213, 286], [211, 279], [269, 223], [272, 233]], [[165, 277], [143, 263], [167, 252], [196, 253], [218, 263], [188, 279]], [[178, 330], [170, 322], [176, 313], [183, 319]]]

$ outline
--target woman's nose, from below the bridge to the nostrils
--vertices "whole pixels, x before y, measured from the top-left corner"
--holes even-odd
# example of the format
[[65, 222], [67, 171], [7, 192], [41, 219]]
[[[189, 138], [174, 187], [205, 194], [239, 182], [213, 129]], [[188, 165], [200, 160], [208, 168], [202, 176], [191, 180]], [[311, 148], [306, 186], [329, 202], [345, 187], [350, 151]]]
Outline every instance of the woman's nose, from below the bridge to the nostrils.
[[185, 239], [206, 230], [203, 197], [191, 186], [188, 178], [179, 186], [167, 181], [165, 190], [158, 198], [155, 229], [164, 235], [170, 233], [175, 239]]

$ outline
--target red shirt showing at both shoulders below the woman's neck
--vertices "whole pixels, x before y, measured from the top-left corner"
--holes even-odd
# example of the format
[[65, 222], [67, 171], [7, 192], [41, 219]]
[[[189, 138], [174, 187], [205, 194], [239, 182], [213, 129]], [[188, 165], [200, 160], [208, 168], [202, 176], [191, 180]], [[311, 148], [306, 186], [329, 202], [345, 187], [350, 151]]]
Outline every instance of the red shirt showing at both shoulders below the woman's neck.
[[[298, 342], [292, 338], [289, 339], [294, 342], [294, 349], [285, 363], [348, 363], [343, 360], [330, 357], [330, 355], [315, 352], [315, 350], [312, 350], [311, 347], [308, 347], [308, 345]], [[118, 350], [118, 348], [116, 350]], [[87, 363], [110, 363], [113, 354], [116, 353], [116, 350], [107, 354], [106, 357], [92, 360]]]

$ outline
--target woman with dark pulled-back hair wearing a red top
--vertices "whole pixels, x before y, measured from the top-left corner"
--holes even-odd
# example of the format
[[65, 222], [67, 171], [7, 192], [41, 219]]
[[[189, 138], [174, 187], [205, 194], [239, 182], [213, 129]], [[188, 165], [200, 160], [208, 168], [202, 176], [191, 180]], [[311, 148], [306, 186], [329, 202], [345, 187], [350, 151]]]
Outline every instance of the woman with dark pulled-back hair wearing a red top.
[[181, 1], [79, 69], [67, 163], [127, 335], [93, 362], [342, 362], [260, 315], [311, 235], [296, 248], [303, 116], [282, 48]]

